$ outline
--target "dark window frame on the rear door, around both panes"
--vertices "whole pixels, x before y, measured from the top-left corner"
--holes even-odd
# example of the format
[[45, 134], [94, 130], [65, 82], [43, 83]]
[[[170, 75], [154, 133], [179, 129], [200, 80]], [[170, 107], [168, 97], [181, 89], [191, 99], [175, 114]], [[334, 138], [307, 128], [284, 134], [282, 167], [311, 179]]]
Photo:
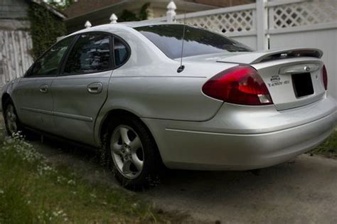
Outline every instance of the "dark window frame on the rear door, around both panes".
[[[70, 52], [71, 50], [73, 50], [75, 43], [77, 43], [78, 39], [80, 38], [81, 35], [84, 34], [95, 34], [95, 33], [99, 33], [99, 34], [106, 34], [107, 36], [109, 36], [109, 55], [110, 55], [110, 59], [109, 59], [109, 68], [105, 69], [105, 70], [100, 70], [97, 72], [89, 72], [89, 73], [71, 73], [71, 74], [65, 74], [64, 73], [64, 69], [65, 69], [65, 63], [67, 62]], [[119, 36], [115, 35], [114, 33], [109, 33], [109, 32], [105, 32], [105, 31], [88, 31], [88, 32], [84, 32], [84, 33], [77, 33], [75, 34], [76, 38], [74, 38], [73, 43], [71, 43], [70, 47], [67, 49], [67, 52], [65, 53], [65, 57], [61, 60], [61, 65], [60, 65], [60, 71], [58, 73], [58, 75], [56, 75], [57, 77], [59, 76], [70, 76], [70, 75], [87, 75], [87, 74], [95, 74], [95, 73], [103, 73], [109, 70], [114, 70], [116, 68], [121, 67], [122, 65], [124, 65], [125, 63], [127, 63], [127, 61], [129, 60], [130, 56], [131, 56], [131, 48], [129, 46], [129, 44], [124, 41], [123, 38], [120, 38]], [[116, 66], [115, 65], [115, 61], [114, 61], [114, 38], [118, 38], [119, 41], [121, 41], [124, 46], [127, 47], [127, 58], [124, 60], [124, 63], [122, 63], [121, 65]]]

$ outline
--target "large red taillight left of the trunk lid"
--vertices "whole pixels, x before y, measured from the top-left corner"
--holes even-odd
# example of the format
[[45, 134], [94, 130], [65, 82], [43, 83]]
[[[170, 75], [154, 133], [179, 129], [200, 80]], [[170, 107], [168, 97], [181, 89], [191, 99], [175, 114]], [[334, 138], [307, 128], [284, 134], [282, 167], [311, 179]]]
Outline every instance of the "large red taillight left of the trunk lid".
[[257, 70], [238, 65], [224, 70], [203, 85], [203, 93], [240, 105], [271, 105], [272, 97]]

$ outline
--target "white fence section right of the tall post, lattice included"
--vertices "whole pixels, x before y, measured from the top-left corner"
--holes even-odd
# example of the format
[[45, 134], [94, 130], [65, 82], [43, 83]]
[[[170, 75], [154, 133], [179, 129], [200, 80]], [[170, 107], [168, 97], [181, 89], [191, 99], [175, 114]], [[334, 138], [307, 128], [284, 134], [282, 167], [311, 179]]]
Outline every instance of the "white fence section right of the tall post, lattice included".
[[337, 0], [269, 6], [269, 48], [323, 50], [328, 92], [337, 99]]

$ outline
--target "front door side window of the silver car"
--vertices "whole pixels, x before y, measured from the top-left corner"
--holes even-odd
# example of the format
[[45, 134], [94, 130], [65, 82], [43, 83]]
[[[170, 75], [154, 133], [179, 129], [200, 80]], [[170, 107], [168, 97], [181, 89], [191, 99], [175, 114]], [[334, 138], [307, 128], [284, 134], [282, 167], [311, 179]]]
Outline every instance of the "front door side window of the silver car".
[[48, 50], [41, 58], [39, 58], [33, 65], [31, 73], [28, 76], [48, 76], [57, 75], [58, 66], [61, 59], [68, 49], [73, 37], [65, 38], [56, 43], [50, 50]]

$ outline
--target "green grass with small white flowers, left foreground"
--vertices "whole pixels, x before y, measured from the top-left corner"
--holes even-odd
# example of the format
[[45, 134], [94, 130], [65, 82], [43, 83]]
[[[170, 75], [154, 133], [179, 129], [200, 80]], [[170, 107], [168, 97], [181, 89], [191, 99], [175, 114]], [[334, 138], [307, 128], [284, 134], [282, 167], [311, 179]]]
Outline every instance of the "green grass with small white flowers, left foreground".
[[[3, 139], [3, 141], [2, 141]], [[50, 166], [20, 137], [0, 143], [0, 223], [173, 223], [123, 188], [90, 183]]]

